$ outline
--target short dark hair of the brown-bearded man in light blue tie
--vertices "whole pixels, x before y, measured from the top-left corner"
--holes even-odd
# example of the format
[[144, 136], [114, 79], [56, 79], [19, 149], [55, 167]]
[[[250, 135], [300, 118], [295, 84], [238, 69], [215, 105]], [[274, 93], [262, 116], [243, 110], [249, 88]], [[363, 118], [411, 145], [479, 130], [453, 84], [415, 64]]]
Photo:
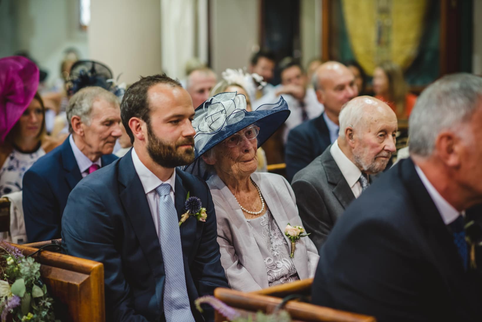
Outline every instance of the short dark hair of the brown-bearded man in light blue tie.
[[134, 143], [134, 134], [132, 134], [131, 128], [129, 127], [129, 120], [137, 117], [146, 123], [150, 122], [147, 91], [156, 84], [182, 87], [179, 80], [174, 80], [166, 76], [166, 74], [141, 77], [140, 80], [129, 86], [120, 103], [120, 118], [124, 125], [125, 132], [127, 132], [131, 138], [131, 143]]

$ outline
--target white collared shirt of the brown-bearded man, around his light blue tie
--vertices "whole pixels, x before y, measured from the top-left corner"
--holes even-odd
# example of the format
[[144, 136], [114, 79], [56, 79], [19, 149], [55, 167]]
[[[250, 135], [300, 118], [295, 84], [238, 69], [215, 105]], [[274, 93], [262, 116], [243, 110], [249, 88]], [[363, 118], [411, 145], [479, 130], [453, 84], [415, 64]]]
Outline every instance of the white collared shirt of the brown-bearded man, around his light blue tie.
[[176, 178], [176, 172], [166, 181], [162, 181], [155, 174], [153, 174], [147, 167], [142, 163], [142, 161], [137, 156], [135, 149], [132, 148], [132, 162], [134, 163], [134, 169], [139, 179], [141, 180], [142, 188], [144, 188], [144, 193], [146, 194], [147, 203], [149, 204], [149, 209], [151, 211], [152, 220], [154, 221], [154, 227], [156, 228], [156, 233], [159, 238], [159, 195], [156, 192], [156, 188], [163, 183], [168, 183], [171, 185], [171, 192], [169, 195], [174, 201], [174, 183]]

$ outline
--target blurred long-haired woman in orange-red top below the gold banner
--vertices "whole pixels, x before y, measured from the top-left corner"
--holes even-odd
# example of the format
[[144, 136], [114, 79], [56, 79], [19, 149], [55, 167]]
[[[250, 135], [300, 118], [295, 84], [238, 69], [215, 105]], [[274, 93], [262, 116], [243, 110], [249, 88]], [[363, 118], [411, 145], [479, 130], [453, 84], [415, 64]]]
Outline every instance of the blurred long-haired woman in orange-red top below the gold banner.
[[373, 91], [375, 97], [386, 102], [399, 119], [407, 119], [410, 116], [417, 99], [416, 95], [408, 92], [402, 68], [388, 61], [375, 68]]

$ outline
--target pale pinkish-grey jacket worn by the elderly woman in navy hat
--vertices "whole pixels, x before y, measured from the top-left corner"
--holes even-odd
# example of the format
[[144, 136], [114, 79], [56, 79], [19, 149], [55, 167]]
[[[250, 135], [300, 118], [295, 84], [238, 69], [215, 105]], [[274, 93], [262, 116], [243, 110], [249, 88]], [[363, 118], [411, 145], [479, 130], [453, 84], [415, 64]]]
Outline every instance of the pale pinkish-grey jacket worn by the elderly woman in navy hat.
[[[288, 223], [301, 226], [295, 194], [285, 178], [269, 173], [254, 173], [251, 178], [261, 190], [283, 234]], [[213, 196], [221, 264], [229, 286], [240, 291], [267, 288], [268, 274], [264, 258], [238, 202], [217, 175], [213, 175], [207, 184]], [[291, 241], [286, 236], [284, 238], [291, 249]], [[293, 263], [300, 279], [313, 277], [319, 258], [309, 238], [296, 241]]]

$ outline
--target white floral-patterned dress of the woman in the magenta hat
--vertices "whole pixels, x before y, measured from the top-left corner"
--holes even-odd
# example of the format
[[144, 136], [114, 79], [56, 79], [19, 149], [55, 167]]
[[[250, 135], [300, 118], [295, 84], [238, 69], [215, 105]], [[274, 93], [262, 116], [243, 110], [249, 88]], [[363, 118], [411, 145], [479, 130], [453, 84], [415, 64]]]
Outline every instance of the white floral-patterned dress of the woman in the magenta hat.
[[22, 190], [24, 174], [44, 154], [41, 147], [32, 153], [13, 149], [0, 168], [0, 196]]

